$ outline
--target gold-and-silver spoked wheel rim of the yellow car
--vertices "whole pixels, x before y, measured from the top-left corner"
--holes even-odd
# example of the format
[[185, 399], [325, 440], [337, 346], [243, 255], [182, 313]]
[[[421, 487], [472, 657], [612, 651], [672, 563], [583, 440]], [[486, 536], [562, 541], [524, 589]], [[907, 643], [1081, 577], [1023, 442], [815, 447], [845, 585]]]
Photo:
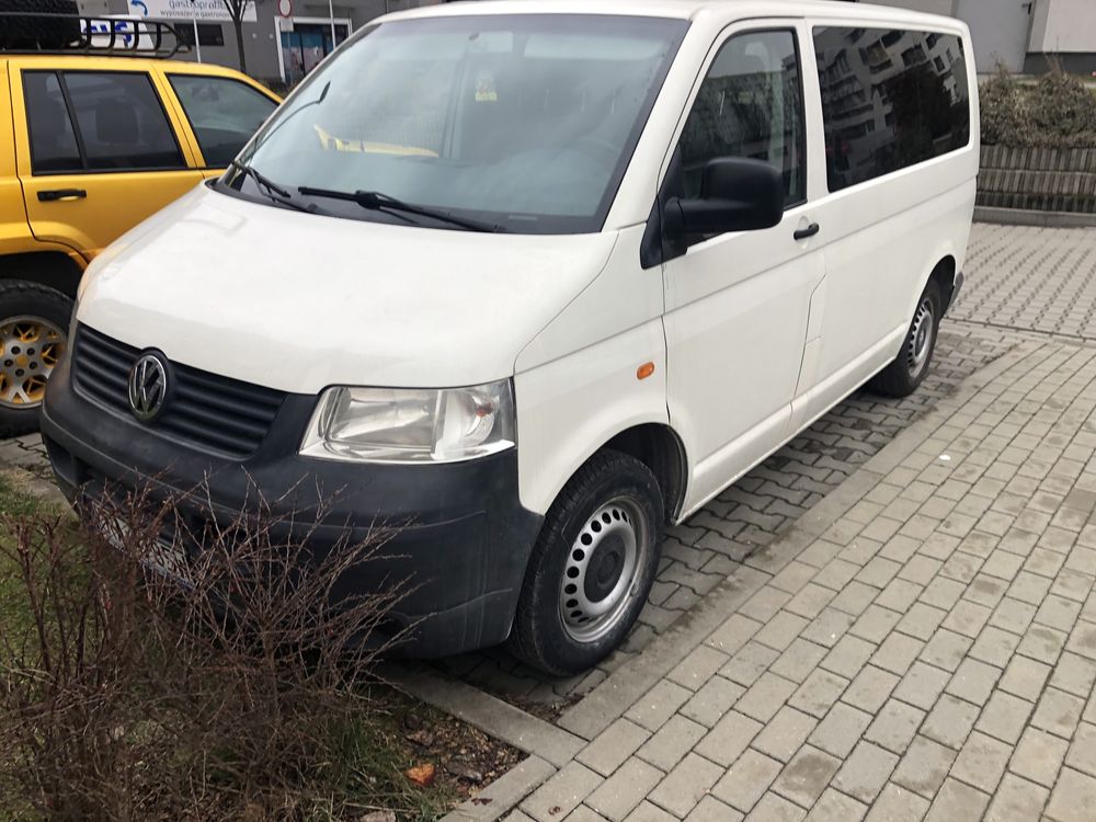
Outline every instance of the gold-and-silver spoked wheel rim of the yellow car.
[[0, 321], [0, 406], [22, 410], [42, 404], [46, 380], [67, 345], [65, 332], [42, 317]]

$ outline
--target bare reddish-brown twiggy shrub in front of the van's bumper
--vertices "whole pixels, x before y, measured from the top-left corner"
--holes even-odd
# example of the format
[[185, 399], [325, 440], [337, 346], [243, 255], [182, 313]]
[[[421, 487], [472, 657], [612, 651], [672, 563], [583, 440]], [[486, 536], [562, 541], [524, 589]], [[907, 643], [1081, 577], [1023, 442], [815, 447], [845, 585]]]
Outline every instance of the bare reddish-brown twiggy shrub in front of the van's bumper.
[[346, 585], [390, 534], [318, 550], [318, 526], [259, 494], [227, 523], [203, 500], [146, 490], [98, 495], [79, 523], [0, 515], [24, 617], [0, 625], [2, 796], [50, 820], [392, 807], [398, 791], [356, 763], [363, 685], [409, 582]]

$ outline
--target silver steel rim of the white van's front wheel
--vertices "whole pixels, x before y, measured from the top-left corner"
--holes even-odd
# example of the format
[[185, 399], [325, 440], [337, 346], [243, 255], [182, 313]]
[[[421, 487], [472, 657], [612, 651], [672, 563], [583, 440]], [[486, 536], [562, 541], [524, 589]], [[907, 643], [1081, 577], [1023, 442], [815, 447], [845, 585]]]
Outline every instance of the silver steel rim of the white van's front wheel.
[[625, 496], [583, 524], [568, 549], [559, 589], [560, 618], [572, 639], [595, 642], [620, 623], [647, 567], [648, 534], [642, 509]]

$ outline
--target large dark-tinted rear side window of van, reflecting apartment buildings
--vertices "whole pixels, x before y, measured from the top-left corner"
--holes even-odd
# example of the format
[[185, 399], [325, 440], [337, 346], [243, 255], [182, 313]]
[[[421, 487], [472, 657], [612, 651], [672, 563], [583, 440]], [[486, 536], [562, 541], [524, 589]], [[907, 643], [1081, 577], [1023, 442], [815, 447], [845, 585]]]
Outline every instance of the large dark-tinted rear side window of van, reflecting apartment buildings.
[[970, 142], [970, 88], [954, 34], [817, 27], [830, 191]]

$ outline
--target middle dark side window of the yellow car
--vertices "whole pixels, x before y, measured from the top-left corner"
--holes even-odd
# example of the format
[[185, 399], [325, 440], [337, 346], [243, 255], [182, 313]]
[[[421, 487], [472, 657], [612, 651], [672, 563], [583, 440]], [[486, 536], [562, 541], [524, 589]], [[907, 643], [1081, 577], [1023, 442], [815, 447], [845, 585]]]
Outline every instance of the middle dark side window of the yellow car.
[[147, 73], [66, 71], [88, 169], [181, 169], [183, 155]]

